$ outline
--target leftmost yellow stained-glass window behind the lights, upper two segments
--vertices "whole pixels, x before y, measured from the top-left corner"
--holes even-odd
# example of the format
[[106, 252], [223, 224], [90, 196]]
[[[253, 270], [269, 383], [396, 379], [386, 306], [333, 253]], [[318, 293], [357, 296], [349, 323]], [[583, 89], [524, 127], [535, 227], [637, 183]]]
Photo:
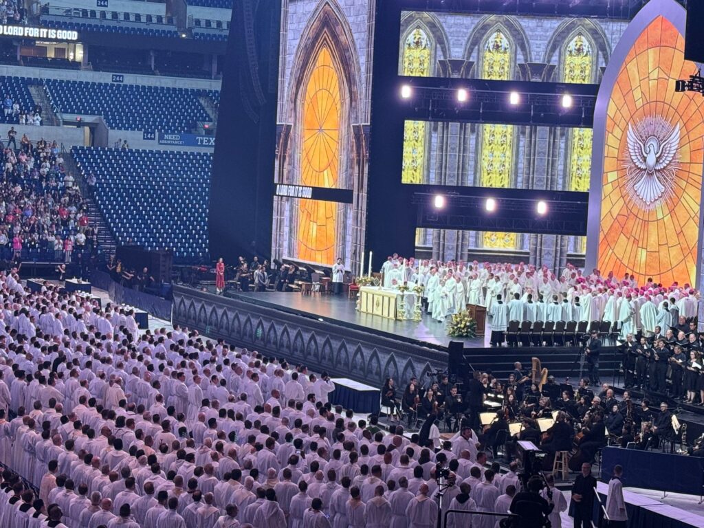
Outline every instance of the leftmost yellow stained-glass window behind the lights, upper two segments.
[[[429, 77], [432, 57], [430, 39], [424, 30], [416, 27], [406, 37], [403, 46], [403, 75]], [[425, 174], [425, 121], [406, 121], [403, 126], [403, 167], [401, 182], [420, 184]]]

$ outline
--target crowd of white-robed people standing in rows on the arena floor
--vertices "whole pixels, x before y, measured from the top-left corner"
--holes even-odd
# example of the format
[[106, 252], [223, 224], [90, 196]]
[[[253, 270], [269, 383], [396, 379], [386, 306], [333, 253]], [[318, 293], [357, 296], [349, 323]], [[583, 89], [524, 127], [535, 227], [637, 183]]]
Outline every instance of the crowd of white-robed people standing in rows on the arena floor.
[[[15, 272], [0, 301], [11, 528], [425, 527], [436, 463], [451, 470], [443, 508], [505, 513], [517, 489], [515, 463], [487, 469], [470, 427], [439, 451], [384, 434], [330, 405], [325, 373], [180, 327], [140, 336], [125, 308], [28, 293]], [[448, 526], [486, 524], [474, 517]]]

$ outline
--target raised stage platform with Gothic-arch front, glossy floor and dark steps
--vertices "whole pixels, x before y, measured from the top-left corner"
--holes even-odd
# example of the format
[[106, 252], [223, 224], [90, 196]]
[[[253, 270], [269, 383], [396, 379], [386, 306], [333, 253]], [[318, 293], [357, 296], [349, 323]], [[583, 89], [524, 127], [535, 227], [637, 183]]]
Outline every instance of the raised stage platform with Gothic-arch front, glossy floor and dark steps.
[[[216, 295], [175, 286], [174, 324], [222, 337], [289, 363], [305, 363], [332, 376], [382, 386], [394, 377], [404, 386], [410, 377], [425, 382], [427, 373], [448, 367], [447, 345], [453, 340], [444, 324], [424, 316], [421, 322], [396, 321], [359, 313], [353, 300], [330, 295], [260, 292]], [[562, 382], [579, 376], [579, 348], [530, 346], [486, 348], [484, 339], [463, 339], [465, 370], [491, 370], [502, 379], [520, 361], [532, 357]], [[620, 356], [603, 348], [601, 377], [611, 382]], [[586, 372], [586, 371], [585, 371]]]

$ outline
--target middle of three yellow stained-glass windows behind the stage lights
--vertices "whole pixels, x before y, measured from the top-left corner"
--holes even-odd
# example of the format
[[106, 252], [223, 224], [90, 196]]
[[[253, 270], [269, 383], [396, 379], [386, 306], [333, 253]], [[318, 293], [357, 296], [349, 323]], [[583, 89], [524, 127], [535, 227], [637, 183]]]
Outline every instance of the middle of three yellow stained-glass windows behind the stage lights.
[[[482, 78], [509, 80], [511, 48], [501, 31], [495, 31], [482, 49]], [[479, 185], [511, 185], [513, 173], [513, 125], [482, 125], [482, 153], [479, 158]], [[515, 249], [515, 233], [484, 232], [482, 245], [489, 249]]]

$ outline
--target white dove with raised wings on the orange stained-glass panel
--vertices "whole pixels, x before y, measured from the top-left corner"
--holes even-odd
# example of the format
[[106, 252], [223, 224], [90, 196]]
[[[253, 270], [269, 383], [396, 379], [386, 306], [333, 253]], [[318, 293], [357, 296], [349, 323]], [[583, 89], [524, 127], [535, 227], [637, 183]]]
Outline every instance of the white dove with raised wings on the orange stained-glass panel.
[[631, 198], [646, 209], [672, 195], [677, 170], [679, 123], [670, 125], [661, 117], [645, 118], [628, 125], [627, 178]]

